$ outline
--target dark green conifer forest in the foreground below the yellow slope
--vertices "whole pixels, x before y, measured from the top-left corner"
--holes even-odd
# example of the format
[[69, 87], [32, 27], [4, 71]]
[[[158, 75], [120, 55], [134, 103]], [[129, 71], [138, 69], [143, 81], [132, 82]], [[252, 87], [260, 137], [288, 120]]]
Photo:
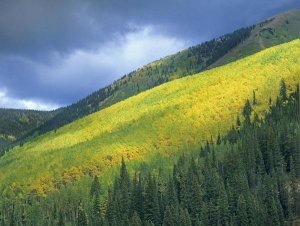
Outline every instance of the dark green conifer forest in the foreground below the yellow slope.
[[169, 177], [130, 176], [123, 160], [107, 192], [95, 177], [84, 200], [3, 206], [2, 225], [291, 225], [300, 216], [299, 88], [288, 95], [283, 82], [264, 119], [253, 102], [226, 136], [181, 156]]

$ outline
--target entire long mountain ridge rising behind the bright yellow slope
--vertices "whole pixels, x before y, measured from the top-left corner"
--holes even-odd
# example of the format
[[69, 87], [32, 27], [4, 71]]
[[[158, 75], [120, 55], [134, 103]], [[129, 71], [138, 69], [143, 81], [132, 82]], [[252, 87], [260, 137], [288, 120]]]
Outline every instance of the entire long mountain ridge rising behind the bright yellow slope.
[[[165, 82], [224, 65], [258, 52], [265, 47], [299, 38], [299, 29], [297, 29], [300, 27], [299, 18], [299, 10], [290, 11], [256, 26], [239, 29], [152, 62], [64, 108], [63, 111], [25, 138], [57, 129]], [[261, 44], [262, 42], [263, 44]]]

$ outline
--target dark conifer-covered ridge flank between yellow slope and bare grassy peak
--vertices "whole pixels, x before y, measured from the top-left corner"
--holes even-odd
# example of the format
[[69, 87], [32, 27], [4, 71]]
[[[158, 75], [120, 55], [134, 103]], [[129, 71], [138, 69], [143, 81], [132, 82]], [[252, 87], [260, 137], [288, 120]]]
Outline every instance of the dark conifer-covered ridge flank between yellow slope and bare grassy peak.
[[252, 28], [239, 29], [137, 69], [113, 84], [64, 108], [36, 131], [45, 133], [57, 129], [147, 89], [202, 71], [245, 40], [250, 35]]

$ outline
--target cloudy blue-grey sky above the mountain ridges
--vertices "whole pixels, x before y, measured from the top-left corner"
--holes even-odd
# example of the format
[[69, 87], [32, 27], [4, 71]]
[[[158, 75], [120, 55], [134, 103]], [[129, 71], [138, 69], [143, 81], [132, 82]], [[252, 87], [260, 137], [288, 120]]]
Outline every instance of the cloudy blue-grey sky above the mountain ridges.
[[0, 0], [0, 107], [53, 109], [299, 0]]

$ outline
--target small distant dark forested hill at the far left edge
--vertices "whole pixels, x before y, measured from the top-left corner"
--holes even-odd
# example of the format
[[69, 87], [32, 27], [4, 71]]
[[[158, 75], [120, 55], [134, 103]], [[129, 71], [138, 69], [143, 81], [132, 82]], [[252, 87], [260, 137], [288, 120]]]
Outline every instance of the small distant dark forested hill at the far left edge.
[[0, 150], [50, 120], [55, 113], [0, 109]]

